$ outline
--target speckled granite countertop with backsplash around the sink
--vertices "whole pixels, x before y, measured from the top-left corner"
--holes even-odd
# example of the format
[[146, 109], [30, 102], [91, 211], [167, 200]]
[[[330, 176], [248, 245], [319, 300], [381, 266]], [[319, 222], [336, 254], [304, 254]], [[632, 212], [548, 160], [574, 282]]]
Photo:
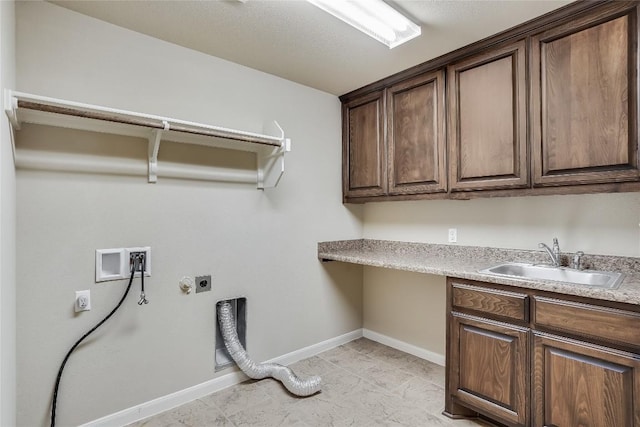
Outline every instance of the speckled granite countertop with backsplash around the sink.
[[[563, 254], [562, 264], [568, 265], [572, 256], [573, 254]], [[318, 258], [323, 261], [437, 274], [640, 305], [640, 258], [589, 254], [583, 256], [585, 269], [624, 273], [624, 280], [618, 289], [549, 280], [515, 279], [478, 272], [504, 262], [546, 263], [548, 255], [542, 251], [360, 239], [320, 242]]]

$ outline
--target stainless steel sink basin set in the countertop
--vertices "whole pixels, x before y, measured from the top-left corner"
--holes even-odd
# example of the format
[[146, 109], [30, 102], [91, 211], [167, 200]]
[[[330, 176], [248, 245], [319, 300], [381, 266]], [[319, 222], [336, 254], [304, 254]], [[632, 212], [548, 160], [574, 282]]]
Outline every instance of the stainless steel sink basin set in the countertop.
[[510, 262], [479, 270], [480, 273], [518, 279], [553, 280], [595, 288], [616, 289], [624, 275], [612, 271], [575, 270], [568, 267]]

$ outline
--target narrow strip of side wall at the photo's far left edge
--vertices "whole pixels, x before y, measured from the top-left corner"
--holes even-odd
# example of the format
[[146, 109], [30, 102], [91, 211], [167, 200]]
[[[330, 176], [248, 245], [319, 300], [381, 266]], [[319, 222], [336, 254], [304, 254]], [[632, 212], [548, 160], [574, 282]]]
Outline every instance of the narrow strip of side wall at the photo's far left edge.
[[[0, 90], [15, 84], [13, 1], [0, 2]], [[4, 111], [4, 97], [0, 101]], [[0, 114], [0, 425], [16, 424], [16, 180], [11, 131]]]

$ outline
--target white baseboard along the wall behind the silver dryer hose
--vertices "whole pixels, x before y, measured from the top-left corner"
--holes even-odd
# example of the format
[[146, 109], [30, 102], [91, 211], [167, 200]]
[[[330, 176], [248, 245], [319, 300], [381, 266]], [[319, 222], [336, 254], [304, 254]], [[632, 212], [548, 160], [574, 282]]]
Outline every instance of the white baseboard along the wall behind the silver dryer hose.
[[[349, 341], [353, 341], [361, 337], [362, 329], [356, 329], [355, 331], [348, 332], [344, 335], [322, 341], [318, 344], [310, 345], [309, 347], [305, 347], [300, 350], [292, 351], [291, 353], [287, 353], [280, 357], [276, 357], [275, 359], [269, 360], [269, 362], [280, 363], [282, 365], [290, 365], [297, 362], [298, 360], [315, 356], [316, 354], [322, 353], [323, 351], [330, 350], [334, 347], [346, 344]], [[193, 387], [189, 387], [184, 390], [180, 390], [175, 393], [171, 393], [166, 396], [141, 403], [139, 405], [104, 416], [94, 421], [90, 421], [86, 424], [83, 424], [81, 427], [113, 427], [131, 424], [152, 415], [168, 411], [169, 409], [173, 409], [177, 406], [184, 405], [185, 403], [189, 403], [211, 393], [215, 393], [216, 391], [220, 391], [227, 387], [240, 384], [241, 382], [246, 380], [247, 376], [242, 372], [230, 372], [226, 375], [214, 378], [201, 384], [197, 384]]]

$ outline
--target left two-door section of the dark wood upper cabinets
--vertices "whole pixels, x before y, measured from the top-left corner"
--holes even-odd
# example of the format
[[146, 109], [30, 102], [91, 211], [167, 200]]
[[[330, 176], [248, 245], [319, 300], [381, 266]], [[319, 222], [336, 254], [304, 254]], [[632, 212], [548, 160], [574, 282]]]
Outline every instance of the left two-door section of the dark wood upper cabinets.
[[447, 191], [444, 117], [443, 71], [344, 104], [345, 200]]

